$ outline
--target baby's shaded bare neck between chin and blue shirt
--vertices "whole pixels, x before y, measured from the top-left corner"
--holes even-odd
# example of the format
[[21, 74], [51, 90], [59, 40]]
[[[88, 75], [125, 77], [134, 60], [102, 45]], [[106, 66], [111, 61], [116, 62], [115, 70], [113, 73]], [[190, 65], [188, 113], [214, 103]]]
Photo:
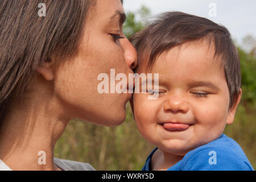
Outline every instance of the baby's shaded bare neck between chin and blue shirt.
[[156, 150], [151, 158], [151, 170], [165, 171], [177, 162], [183, 159], [183, 156], [173, 155], [161, 150]]

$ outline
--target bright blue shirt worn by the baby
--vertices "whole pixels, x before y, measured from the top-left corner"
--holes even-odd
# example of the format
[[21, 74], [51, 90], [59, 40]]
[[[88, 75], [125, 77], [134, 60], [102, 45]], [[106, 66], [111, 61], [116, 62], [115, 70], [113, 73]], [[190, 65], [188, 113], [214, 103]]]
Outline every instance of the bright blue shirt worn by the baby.
[[[148, 156], [143, 171], [151, 170], [151, 157]], [[253, 171], [249, 160], [239, 144], [222, 134], [220, 138], [197, 147], [184, 155], [183, 159], [167, 171]]]

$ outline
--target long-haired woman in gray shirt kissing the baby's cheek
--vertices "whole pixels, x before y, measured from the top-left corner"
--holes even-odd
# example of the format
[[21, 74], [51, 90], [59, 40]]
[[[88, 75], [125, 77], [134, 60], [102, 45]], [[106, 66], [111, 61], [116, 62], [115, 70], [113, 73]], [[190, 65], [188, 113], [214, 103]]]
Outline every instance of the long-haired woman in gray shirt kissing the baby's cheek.
[[[42, 2], [46, 16], [38, 15]], [[125, 120], [131, 94], [97, 92], [100, 73], [115, 69], [128, 77], [137, 66], [137, 52], [122, 33], [122, 2], [1, 3], [1, 169], [93, 169], [53, 160], [53, 151], [72, 118], [103, 126]]]

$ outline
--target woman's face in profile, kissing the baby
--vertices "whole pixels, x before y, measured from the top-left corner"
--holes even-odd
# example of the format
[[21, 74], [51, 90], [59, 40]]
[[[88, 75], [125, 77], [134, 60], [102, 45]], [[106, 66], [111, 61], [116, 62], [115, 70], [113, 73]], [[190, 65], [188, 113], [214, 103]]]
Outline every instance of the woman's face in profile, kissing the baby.
[[110, 85], [110, 69], [128, 78], [137, 65], [137, 51], [129, 40], [117, 39], [124, 36], [123, 15], [120, 0], [97, 0], [87, 16], [78, 55], [56, 69], [56, 96], [72, 118], [104, 126], [120, 125], [125, 120], [131, 94], [101, 94], [97, 90], [100, 73], [108, 75]]

